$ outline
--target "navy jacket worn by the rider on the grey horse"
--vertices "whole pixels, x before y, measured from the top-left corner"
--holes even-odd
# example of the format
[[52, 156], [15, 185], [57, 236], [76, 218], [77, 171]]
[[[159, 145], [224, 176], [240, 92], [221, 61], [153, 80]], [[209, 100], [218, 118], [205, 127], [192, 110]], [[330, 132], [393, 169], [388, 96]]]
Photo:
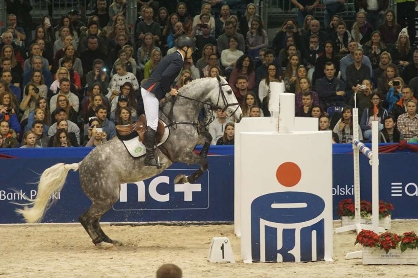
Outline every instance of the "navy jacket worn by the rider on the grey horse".
[[170, 92], [171, 84], [183, 68], [183, 56], [179, 51], [173, 52], [159, 61], [150, 78], [141, 86], [154, 93], [158, 100]]

